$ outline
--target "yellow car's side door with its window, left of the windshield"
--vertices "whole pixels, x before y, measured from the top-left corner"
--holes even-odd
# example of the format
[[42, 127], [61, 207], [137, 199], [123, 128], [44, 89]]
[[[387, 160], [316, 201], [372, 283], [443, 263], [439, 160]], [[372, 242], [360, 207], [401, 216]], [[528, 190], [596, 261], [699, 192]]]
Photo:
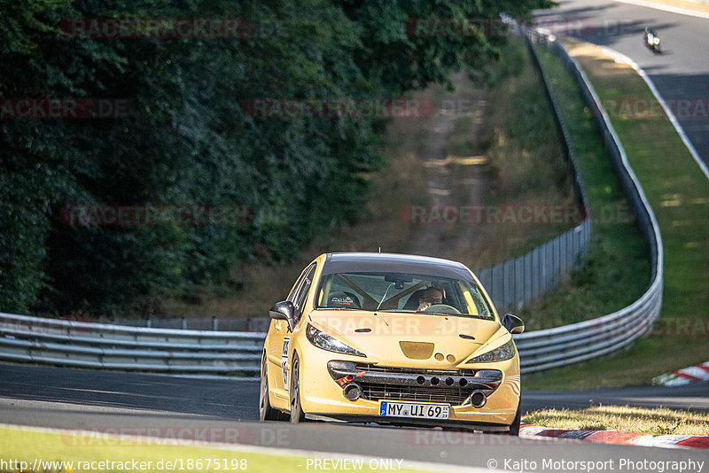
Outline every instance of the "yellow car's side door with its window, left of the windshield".
[[[308, 292], [313, 284], [315, 272], [316, 263], [305, 268], [298, 281], [293, 285], [288, 299], [286, 299], [293, 303], [293, 318], [296, 323], [300, 321], [300, 317], [303, 314], [303, 308], [306, 300], [308, 300]], [[288, 349], [291, 342], [291, 332], [286, 321], [274, 320], [271, 323], [273, 324], [273, 332], [271, 332], [269, 342], [269, 361], [272, 363], [270, 368], [277, 369], [281, 375], [276, 376], [276, 395], [285, 399], [288, 397], [290, 381], [288, 376], [291, 365], [288, 360]]]

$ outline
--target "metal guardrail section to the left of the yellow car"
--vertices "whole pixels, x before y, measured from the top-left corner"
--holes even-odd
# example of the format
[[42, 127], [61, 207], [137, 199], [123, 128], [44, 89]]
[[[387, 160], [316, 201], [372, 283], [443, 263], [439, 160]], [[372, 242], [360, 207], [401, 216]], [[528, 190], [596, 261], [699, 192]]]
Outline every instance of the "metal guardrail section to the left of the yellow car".
[[260, 372], [264, 337], [0, 314], [0, 359], [77, 368], [253, 377]]

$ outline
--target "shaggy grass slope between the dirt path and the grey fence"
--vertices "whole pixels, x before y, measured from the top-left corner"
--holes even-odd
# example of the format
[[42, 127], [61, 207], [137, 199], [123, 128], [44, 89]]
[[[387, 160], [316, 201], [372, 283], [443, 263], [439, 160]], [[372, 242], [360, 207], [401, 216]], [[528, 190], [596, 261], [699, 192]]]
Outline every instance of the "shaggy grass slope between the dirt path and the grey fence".
[[[480, 146], [491, 168], [486, 205], [574, 205], [561, 136], [541, 77], [521, 41], [510, 41], [491, 71], [489, 106]], [[481, 244], [473, 271], [522, 256], [572, 229], [573, 223], [510, 223], [479, 226]]]

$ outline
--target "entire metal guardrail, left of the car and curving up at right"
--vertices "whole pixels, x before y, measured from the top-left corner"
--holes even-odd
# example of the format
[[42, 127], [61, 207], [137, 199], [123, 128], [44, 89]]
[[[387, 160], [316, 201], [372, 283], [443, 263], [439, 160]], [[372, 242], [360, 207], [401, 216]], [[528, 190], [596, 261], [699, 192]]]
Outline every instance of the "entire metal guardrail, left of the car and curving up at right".
[[[663, 252], [658, 224], [640, 183], [627, 164], [618, 136], [586, 75], [563, 46], [547, 35], [537, 34], [535, 39], [565, 62], [594, 109], [616, 171], [637, 215], [638, 225], [651, 246], [652, 278], [643, 297], [618, 312], [555, 329], [516, 335], [523, 373], [571, 365], [626, 348], [651, 330], [662, 303]], [[530, 49], [536, 58], [531, 44]], [[541, 74], [557, 112], [559, 126], [567, 138], [556, 99], [550, 92], [543, 70]], [[569, 156], [573, 159], [573, 151]], [[590, 221], [587, 222], [588, 229], [583, 232], [588, 242]], [[504, 279], [503, 283], [516, 282]], [[262, 332], [152, 329], [0, 314], [0, 359], [82, 368], [253, 378], [259, 375], [264, 337]]]

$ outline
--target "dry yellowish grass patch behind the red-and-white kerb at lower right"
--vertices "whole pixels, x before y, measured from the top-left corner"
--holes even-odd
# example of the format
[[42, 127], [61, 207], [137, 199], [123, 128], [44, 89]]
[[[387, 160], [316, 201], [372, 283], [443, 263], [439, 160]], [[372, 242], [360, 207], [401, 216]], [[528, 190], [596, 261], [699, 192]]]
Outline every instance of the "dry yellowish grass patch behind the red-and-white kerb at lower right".
[[709, 435], [709, 413], [664, 407], [597, 406], [581, 410], [544, 409], [527, 414], [524, 422], [564, 430]]

